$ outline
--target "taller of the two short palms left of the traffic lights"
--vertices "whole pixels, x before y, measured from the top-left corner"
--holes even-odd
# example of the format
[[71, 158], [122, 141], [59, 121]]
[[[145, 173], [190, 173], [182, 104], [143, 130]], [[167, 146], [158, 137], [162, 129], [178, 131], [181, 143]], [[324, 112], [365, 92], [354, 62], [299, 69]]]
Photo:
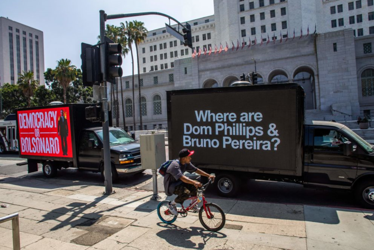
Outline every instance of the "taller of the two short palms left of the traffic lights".
[[69, 59], [61, 59], [57, 61], [57, 67], [53, 70], [53, 74], [55, 74], [55, 78], [64, 89], [64, 104], [66, 104], [66, 90], [69, 87], [70, 82], [76, 79], [77, 67], [71, 65]]

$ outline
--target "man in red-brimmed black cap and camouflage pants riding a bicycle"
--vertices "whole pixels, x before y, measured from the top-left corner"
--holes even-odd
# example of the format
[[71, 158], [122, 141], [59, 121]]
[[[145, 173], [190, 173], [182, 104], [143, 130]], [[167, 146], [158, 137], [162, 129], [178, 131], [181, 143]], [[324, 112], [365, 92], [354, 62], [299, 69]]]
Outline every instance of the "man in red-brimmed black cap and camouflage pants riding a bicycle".
[[[196, 168], [191, 163], [191, 155], [193, 155], [194, 151], [190, 151], [187, 148], [182, 149], [179, 152], [179, 160], [176, 160], [170, 164], [168, 169], [166, 170], [166, 174], [164, 177], [164, 188], [165, 193], [168, 196], [171, 195], [178, 195], [174, 201], [169, 202], [169, 210], [175, 216], [178, 216], [177, 211], [177, 203], [183, 204], [190, 196], [197, 195], [197, 189], [202, 187], [202, 184], [198, 181], [191, 180], [190, 178], [186, 177], [183, 173], [189, 172], [196, 174], [203, 175], [209, 177], [214, 181], [214, 175], [209, 175], [204, 171]], [[196, 200], [191, 200], [191, 204]], [[200, 208], [195, 205], [191, 208], [190, 211], [199, 212]]]

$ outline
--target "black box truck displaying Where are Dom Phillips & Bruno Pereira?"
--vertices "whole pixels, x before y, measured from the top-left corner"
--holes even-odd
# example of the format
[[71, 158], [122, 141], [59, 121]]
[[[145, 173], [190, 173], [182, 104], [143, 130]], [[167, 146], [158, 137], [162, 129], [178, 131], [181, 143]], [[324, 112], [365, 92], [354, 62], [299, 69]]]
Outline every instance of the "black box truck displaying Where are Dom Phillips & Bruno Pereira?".
[[352, 191], [374, 208], [374, 148], [340, 123], [304, 124], [295, 83], [167, 91], [169, 159], [193, 164], [233, 196], [241, 181], [272, 180]]

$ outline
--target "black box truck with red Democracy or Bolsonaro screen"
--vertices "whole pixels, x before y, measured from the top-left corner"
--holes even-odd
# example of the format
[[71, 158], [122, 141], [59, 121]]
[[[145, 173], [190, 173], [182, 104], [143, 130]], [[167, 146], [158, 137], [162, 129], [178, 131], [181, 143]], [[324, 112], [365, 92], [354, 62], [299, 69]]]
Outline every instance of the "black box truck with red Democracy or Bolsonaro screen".
[[[16, 110], [19, 157], [28, 160], [29, 172], [37, 171], [37, 163], [42, 163], [46, 177], [69, 167], [101, 172], [104, 177], [102, 123], [86, 120], [88, 106], [66, 104]], [[109, 136], [113, 181], [117, 181], [118, 173], [143, 171], [140, 144], [120, 128], [109, 127]]]

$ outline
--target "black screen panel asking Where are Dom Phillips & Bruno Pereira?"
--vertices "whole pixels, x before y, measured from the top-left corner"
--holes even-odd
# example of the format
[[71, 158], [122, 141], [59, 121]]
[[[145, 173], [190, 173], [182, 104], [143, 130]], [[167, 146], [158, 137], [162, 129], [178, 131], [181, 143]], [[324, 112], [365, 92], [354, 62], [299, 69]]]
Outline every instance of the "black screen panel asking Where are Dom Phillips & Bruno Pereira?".
[[193, 163], [295, 171], [303, 107], [297, 89], [231, 88], [168, 93], [170, 157], [188, 148]]

